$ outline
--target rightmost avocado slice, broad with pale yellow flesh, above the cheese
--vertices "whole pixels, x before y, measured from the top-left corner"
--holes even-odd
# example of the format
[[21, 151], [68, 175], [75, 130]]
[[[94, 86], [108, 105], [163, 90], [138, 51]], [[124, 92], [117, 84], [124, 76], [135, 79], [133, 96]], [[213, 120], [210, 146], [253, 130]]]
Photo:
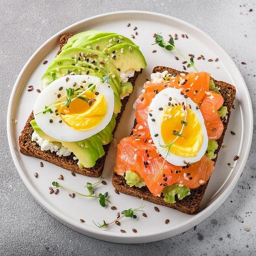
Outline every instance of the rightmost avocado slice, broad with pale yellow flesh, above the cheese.
[[129, 69], [140, 71], [147, 63], [138, 46], [132, 44], [116, 44], [105, 50], [112, 59], [112, 64], [125, 72]]

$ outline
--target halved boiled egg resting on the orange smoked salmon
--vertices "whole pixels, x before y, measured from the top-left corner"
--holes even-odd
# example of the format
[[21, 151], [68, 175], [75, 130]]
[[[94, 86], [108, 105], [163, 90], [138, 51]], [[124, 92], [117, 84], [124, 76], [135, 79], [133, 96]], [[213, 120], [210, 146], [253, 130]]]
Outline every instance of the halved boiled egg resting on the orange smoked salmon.
[[152, 99], [148, 113], [150, 135], [159, 154], [176, 166], [199, 161], [208, 136], [197, 104], [175, 88], [165, 88]]

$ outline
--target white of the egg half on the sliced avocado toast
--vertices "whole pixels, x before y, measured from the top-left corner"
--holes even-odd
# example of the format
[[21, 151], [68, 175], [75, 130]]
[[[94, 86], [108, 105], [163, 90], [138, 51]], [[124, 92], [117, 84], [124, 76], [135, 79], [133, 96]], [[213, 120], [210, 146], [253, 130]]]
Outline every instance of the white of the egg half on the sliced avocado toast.
[[[68, 82], [66, 82], [66, 78], [68, 78]], [[82, 83], [83, 81], [86, 83]], [[47, 86], [38, 96], [36, 103], [34, 105], [34, 118], [38, 124], [38, 126], [42, 129], [44, 133], [48, 136], [66, 142], [75, 142], [79, 140], [84, 140], [93, 136], [94, 134], [103, 130], [107, 124], [110, 122], [113, 111], [114, 111], [114, 92], [109, 84], [98, 83], [96, 85], [95, 90], [100, 94], [103, 94], [107, 103], [107, 112], [104, 116], [103, 120], [92, 129], [88, 129], [85, 131], [75, 130], [74, 128], [68, 126], [64, 121], [59, 123], [61, 120], [61, 115], [56, 116], [55, 113], [50, 114], [46, 112], [46, 114], [40, 113], [41, 110], [45, 108], [45, 106], [51, 105], [53, 102], [57, 100], [57, 94], [61, 94], [62, 96], [66, 94], [66, 89], [68, 88], [78, 88], [80, 85], [83, 85], [84, 88], [89, 84], [94, 84], [99, 81], [99, 78], [88, 75], [71, 75], [71, 76], [63, 76], [58, 78], [54, 82], [52, 82], [49, 86]], [[76, 82], [76, 86], [73, 86]], [[60, 87], [63, 87], [61, 91], [59, 91]], [[50, 123], [49, 120], [52, 119], [53, 122]]]

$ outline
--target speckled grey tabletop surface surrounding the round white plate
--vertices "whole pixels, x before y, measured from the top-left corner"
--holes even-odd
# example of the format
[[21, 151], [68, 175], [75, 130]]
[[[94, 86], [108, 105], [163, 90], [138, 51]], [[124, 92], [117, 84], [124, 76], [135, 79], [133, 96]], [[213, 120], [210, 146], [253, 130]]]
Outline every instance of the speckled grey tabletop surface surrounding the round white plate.
[[[255, 113], [254, 2], [1, 0], [0, 255], [256, 255], [255, 136], [246, 168], [234, 192], [210, 218], [195, 230], [188, 230], [179, 236], [150, 244], [129, 245], [84, 236], [48, 215], [35, 202], [18, 176], [6, 134], [10, 90], [33, 52], [62, 28], [89, 16], [117, 10], [162, 12], [204, 30], [238, 65], [251, 93]], [[252, 12], [248, 12], [250, 8]], [[246, 65], [241, 62], [246, 62]], [[250, 227], [250, 231], [246, 232], [245, 227]]]

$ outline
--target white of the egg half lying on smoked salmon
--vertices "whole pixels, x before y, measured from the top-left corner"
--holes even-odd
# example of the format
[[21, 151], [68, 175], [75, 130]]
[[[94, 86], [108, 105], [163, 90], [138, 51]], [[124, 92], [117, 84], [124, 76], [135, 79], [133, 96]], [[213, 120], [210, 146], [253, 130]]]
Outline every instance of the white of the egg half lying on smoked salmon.
[[[186, 94], [185, 94], [186, 95]], [[191, 110], [196, 114], [203, 134], [203, 140], [200, 150], [197, 152], [196, 156], [194, 157], [184, 157], [184, 156], [177, 156], [170, 153], [168, 156], [166, 154], [166, 148], [162, 148], [160, 145], [164, 145], [164, 140], [161, 135], [161, 126], [162, 121], [164, 119], [164, 114], [166, 108], [168, 108], [169, 97], [172, 98], [171, 103], [175, 104], [180, 102], [184, 102], [184, 104], [190, 104]], [[159, 110], [159, 108], [163, 108], [164, 110]], [[185, 166], [186, 163], [194, 163], [199, 161], [202, 156], [205, 154], [207, 146], [208, 146], [208, 136], [206, 127], [204, 124], [204, 118], [199, 108], [197, 108], [197, 104], [194, 103], [189, 97], [184, 98], [184, 95], [181, 94], [181, 91], [175, 88], [165, 88], [164, 90], [160, 91], [156, 96], [152, 99], [152, 102], [149, 106], [149, 113], [152, 116], [148, 115], [148, 126], [150, 130], [150, 135], [153, 140], [154, 145], [156, 146], [159, 154], [161, 154], [167, 162], [176, 166]], [[155, 120], [154, 122], [152, 121]], [[189, 125], [189, 124], [188, 124]], [[172, 132], [172, 131], [170, 131]], [[158, 134], [156, 137], [155, 134]]]

